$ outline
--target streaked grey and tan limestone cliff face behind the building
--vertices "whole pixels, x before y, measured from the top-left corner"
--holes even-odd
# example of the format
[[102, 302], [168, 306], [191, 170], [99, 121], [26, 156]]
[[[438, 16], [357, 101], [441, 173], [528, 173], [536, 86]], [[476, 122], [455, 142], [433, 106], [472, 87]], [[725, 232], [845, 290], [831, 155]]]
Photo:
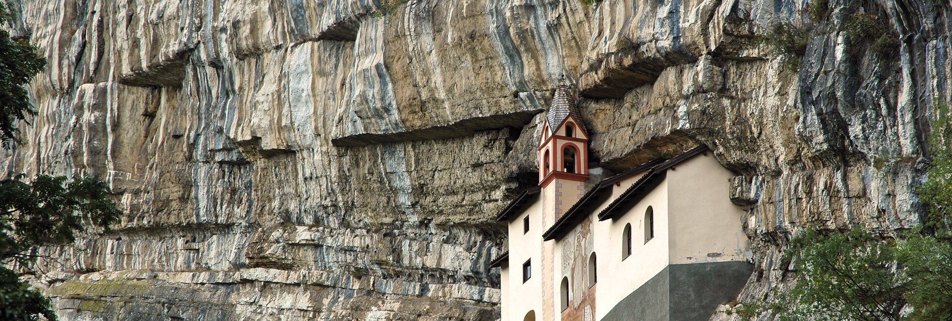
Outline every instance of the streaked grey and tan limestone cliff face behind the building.
[[[0, 162], [107, 179], [114, 232], [42, 251], [67, 320], [494, 320], [493, 215], [534, 184], [550, 90], [620, 171], [698, 143], [757, 272], [807, 225], [918, 223], [952, 4], [831, 0], [13, 0], [50, 60]], [[895, 42], [846, 25], [870, 12]], [[759, 37], [810, 25], [799, 68]], [[728, 182], [724, 182], [728, 183]], [[715, 318], [725, 318], [718, 315]]]

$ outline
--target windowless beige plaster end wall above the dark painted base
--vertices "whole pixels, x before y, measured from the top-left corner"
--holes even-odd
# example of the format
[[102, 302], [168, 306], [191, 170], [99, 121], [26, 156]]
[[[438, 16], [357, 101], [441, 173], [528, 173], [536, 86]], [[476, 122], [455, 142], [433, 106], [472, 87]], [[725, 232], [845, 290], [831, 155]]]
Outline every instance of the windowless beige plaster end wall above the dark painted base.
[[713, 153], [697, 155], [667, 171], [671, 264], [745, 260], [744, 211], [730, 202], [733, 173]]

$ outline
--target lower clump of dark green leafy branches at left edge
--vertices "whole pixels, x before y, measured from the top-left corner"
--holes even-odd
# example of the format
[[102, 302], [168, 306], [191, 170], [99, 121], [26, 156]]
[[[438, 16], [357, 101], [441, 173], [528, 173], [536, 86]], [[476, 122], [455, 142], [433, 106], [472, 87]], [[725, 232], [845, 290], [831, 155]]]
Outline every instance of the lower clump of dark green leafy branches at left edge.
[[121, 215], [108, 197], [106, 182], [90, 177], [40, 176], [31, 182], [0, 180], [0, 316], [4, 320], [55, 320], [50, 301], [30, 290], [10, 264], [30, 266], [28, 250], [68, 243], [86, 222], [108, 228]]

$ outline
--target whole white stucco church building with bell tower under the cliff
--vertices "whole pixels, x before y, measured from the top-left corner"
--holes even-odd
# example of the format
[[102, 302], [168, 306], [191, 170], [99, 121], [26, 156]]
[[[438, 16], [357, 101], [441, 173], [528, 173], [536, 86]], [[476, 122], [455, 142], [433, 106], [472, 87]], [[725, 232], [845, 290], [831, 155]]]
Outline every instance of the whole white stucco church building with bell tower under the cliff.
[[752, 270], [733, 174], [702, 145], [589, 181], [571, 97], [560, 85], [546, 117], [539, 186], [499, 215], [503, 320], [708, 319]]

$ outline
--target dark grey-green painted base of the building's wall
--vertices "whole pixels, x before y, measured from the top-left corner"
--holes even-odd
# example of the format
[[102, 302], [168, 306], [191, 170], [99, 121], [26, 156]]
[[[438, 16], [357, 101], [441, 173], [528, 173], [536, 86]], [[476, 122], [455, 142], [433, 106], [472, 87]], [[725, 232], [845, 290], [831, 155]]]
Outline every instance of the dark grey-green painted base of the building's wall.
[[628, 294], [601, 321], [703, 321], [733, 301], [753, 272], [744, 261], [673, 264]]

